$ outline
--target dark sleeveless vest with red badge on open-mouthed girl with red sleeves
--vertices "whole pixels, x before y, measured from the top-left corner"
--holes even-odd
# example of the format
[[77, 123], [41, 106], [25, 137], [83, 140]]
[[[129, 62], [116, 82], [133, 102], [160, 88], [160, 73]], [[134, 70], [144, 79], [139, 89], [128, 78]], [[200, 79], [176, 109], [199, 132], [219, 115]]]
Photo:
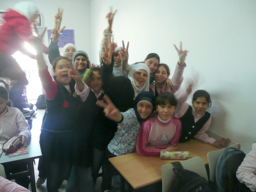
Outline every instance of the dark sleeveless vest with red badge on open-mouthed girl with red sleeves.
[[71, 94], [57, 79], [57, 93], [54, 99], [46, 99], [47, 109], [42, 123], [42, 130], [52, 132], [74, 131], [78, 126], [79, 99], [72, 96], [73, 82], [70, 82]]

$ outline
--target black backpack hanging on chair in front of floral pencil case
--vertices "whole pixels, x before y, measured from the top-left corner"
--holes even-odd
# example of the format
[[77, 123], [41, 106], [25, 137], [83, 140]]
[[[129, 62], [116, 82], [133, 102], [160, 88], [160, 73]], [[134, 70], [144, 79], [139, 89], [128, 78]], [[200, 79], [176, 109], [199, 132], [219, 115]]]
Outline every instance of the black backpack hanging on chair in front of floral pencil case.
[[178, 161], [171, 163], [174, 178], [169, 192], [212, 192], [212, 187], [208, 181], [197, 173], [184, 169]]

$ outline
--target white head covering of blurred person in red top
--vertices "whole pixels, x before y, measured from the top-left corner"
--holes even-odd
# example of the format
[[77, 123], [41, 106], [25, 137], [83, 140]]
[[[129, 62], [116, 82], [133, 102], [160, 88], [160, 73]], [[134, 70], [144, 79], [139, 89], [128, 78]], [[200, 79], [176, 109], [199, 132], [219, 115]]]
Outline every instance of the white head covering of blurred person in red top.
[[16, 3], [13, 9], [25, 15], [30, 22], [33, 15], [40, 14], [40, 10], [35, 4], [27, 1]]

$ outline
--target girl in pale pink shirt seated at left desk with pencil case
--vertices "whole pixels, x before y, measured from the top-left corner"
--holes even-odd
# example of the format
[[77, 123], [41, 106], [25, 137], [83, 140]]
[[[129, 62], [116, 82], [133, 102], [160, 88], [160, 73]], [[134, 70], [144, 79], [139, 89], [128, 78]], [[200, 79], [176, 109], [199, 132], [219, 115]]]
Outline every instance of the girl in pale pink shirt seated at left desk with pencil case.
[[[22, 137], [23, 146], [27, 146], [27, 140], [31, 136], [30, 128], [26, 122], [22, 112], [6, 105], [8, 102], [8, 91], [4, 87], [0, 87], [0, 142], [6, 141], [10, 137]], [[2, 147], [2, 146], [1, 146]], [[17, 173], [27, 170], [26, 163], [6, 163], [4, 164], [5, 174]], [[28, 177], [15, 179], [16, 183], [28, 188]]]

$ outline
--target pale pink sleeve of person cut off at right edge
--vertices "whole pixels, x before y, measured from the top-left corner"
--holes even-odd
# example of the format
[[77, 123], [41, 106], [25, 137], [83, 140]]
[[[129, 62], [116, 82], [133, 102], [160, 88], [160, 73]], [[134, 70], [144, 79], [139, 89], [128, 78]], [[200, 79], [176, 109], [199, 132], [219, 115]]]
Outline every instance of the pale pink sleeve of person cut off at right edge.
[[245, 184], [251, 191], [256, 191], [256, 143], [237, 169], [238, 180]]

